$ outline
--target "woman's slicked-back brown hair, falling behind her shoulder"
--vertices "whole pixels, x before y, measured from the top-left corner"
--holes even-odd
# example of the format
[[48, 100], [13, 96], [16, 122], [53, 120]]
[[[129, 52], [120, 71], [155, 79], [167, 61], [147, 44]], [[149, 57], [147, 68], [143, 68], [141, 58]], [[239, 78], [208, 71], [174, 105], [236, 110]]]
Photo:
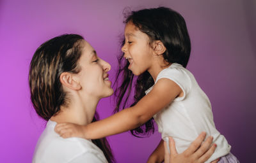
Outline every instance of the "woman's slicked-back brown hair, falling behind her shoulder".
[[[31, 101], [36, 113], [45, 120], [57, 115], [60, 106], [69, 103], [60, 75], [63, 72], [79, 73], [81, 41], [83, 37], [77, 34], [63, 34], [43, 43], [33, 55], [29, 67]], [[98, 119], [96, 112], [93, 122]], [[102, 150], [108, 162], [115, 162], [106, 138], [95, 139], [93, 143]]]

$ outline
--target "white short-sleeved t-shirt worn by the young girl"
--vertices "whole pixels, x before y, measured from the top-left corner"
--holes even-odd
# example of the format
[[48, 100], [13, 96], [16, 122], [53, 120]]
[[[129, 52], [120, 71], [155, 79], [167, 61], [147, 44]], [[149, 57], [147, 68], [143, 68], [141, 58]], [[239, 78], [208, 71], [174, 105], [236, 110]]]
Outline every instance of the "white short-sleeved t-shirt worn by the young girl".
[[[182, 153], [204, 131], [207, 132], [207, 136], [213, 137], [213, 143], [217, 145], [207, 162], [227, 155], [231, 146], [215, 128], [211, 103], [204, 91], [200, 89], [193, 74], [180, 64], [173, 63], [157, 75], [155, 83], [161, 78], [174, 81], [184, 92], [183, 97], [175, 98], [172, 103], [154, 115], [162, 138], [171, 136], [175, 140], [177, 152]], [[145, 93], [148, 94], [153, 87], [154, 85]]]

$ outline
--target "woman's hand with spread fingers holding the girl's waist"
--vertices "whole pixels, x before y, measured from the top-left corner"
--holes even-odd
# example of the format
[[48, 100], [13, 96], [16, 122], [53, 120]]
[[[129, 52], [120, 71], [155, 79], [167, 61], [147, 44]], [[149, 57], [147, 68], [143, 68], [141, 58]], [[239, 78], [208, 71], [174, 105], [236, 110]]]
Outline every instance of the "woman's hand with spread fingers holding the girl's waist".
[[[174, 140], [169, 137], [170, 154], [168, 152], [166, 142], [164, 142], [164, 163], [205, 162], [211, 157], [216, 148], [216, 144], [211, 145], [212, 136], [209, 136], [209, 138], [204, 141], [205, 136], [205, 132], [202, 132], [198, 138], [196, 138], [195, 141], [191, 143], [189, 148], [180, 154], [176, 151]], [[214, 160], [212, 163], [216, 163], [218, 160], [219, 159]]]

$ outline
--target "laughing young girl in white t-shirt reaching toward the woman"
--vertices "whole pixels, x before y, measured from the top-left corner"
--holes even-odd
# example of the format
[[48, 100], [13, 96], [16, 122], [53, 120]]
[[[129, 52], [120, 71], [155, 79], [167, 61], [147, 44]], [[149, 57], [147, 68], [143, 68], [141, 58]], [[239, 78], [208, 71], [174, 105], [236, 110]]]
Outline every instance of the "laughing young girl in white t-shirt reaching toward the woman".
[[[172, 136], [178, 153], [184, 152], [196, 136], [205, 131], [217, 145], [207, 162], [218, 158], [222, 162], [238, 162], [230, 153], [225, 137], [215, 128], [208, 97], [193, 74], [185, 68], [191, 44], [184, 18], [169, 8], [161, 7], [132, 11], [125, 23], [124, 53], [118, 71], [123, 81], [118, 88], [116, 111], [119, 111], [126, 95], [124, 108], [136, 75], [134, 103], [130, 108], [89, 125], [58, 124], [56, 132], [63, 138], [79, 136], [89, 139], [131, 129], [134, 129], [132, 134], [143, 134], [144, 131], [154, 131], [154, 117], [162, 138]], [[124, 66], [123, 59], [127, 60]], [[163, 141], [154, 153], [161, 153], [157, 152], [161, 149]]]

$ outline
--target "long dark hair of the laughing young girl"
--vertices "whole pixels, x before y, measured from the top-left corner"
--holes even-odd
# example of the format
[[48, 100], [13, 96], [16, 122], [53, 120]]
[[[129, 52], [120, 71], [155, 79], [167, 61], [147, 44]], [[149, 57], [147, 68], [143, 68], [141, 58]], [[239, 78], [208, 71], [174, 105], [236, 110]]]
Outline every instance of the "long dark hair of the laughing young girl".
[[[186, 67], [188, 64], [191, 43], [188, 29], [184, 18], [170, 8], [159, 7], [139, 11], [131, 11], [126, 16], [125, 24], [132, 23], [138, 30], [144, 32], [150, 38], [150, 43], [159, 40], [166, 47], [163, 58], [170, 64], [176, 62]], [[125, 39], [122, 41], [122, 46]], [[145, 71], [137, 78], [128, 69], [129, 62], [124, 59], [124, 53], [118, 57], [118, 71], [115, 80], [116, 108], [114, 112], [127, 107], [127, 101], [131, 95], [132, 85], [134, 85], [134, 99], [131, 106], [134, 106], [142, 97], [145, 90], [154, 85], [152, 76]], [[131, 134], [140, 137], [154, 132], [153, 118], [145, 124], [131, 130]]]

